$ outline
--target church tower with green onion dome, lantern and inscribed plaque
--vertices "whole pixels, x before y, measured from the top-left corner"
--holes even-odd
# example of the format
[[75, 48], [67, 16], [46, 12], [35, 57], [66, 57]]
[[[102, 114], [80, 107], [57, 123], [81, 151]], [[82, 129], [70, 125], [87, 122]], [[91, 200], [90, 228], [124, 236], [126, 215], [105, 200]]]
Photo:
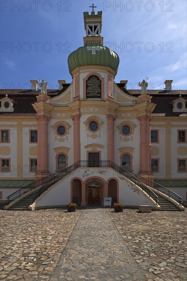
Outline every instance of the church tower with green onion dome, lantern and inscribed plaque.
[[[100, 36], [102, 11], [97, 14], [95, 11], [91, 14], [84, 12], [84, 23], [86, 31], [84, 46], [72, 52], [68, 57], [69, 72], [75, 81], [74, 98], [106, 100], [108, 96], [113, 96], [113, 80], [117, 74], [119, 57], [108, 47], [103, 46], [103, 37]], [[91, 88], [89, 87], [91, 82], [87, 82], [90, 76], [94, 76]], [[85, 80], [84, 85], [81, 82], [82, 78]], [[90, 79], [92, 81], [92, 78]], [[94, 89], [94, 81], [100, 90], [96, 87]]]

